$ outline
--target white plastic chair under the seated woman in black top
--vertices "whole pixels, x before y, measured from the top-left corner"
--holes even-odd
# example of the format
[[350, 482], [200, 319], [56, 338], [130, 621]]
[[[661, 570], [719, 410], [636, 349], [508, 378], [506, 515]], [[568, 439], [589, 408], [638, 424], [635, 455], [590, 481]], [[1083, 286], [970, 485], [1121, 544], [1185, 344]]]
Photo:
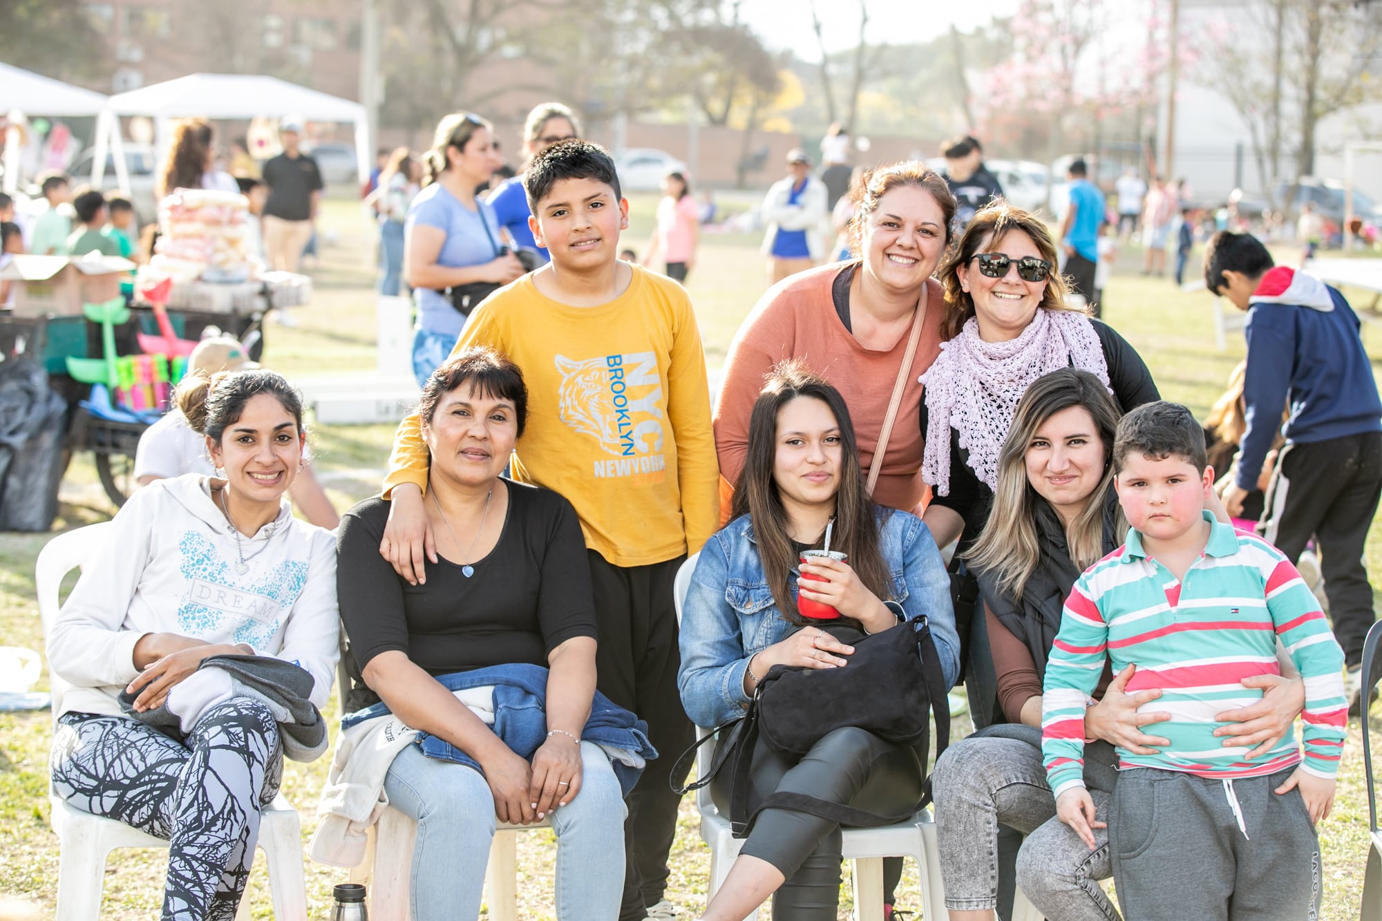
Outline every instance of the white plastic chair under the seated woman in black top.
[[[550, 827], [551, 821], [543, 819], [532, 826], [500, 821], [495, 828], [485, 867], [489, 921], [518, 921], [518, 832]], [[372, 921], [412, 921], [409, 885], [417, 823], [390, 806], [368, 834], [369, 850], [351, 870], [350, 881], [369, 884]]]

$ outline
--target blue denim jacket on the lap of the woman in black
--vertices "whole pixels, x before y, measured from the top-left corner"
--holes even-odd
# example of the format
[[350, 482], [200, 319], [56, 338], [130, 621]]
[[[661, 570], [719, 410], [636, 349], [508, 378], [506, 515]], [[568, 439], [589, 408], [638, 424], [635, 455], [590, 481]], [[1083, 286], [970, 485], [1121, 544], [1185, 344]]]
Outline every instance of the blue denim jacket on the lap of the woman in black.
[[[524, 759], [531, 759], [538, 748], [547, 740], [547, 669], [542, 665], [515, 664], [491, 665], [468, 672], [452, 675], [437, 675], [437, 680], [449, 691], [470, 690], [471, 687], [495, 687], [495, 725], [491, 729], [509, 748]], [[341, 718], [341, 729], [350, 729], [357, 723], [377, 716], [392, 715], [383, 701]], [[648, 723], [643, 722], [623, 707], [616, 707], [608, 697], [596, 691], [590, 705], [590, 719], [580, 730], [583, 741], [640, 755], [644, 761], [658, 756], [658, 750], [648, 741]], [[452, 745], [444, 738], [420, 733], [417, 744], [428, 758], [439, 761], [453, 761], [481, 770], [475, 759]], [[632, 768], [619, 761], [614, 762], [615, 777], [623, 788], [623, 795], [629, 795], [633, 784], [643, 773], [638, 768]]]

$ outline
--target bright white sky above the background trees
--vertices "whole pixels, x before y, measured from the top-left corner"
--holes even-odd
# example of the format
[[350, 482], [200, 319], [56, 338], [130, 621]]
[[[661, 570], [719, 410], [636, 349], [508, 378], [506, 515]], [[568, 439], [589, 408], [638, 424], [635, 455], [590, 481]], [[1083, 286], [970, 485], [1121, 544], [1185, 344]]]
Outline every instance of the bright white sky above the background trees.
[[[949, 30], [962, 32], [1007, 15], [1019, 0], [867, 0], [869, 44], [911, 44]], [[860, 0], [815, 0], [829, 51], [853, 48], [858, 41]], [[739, 15], [768, 47], [789, 48], [803, 61], [820, 61], [808, 0], [744, 0]]]

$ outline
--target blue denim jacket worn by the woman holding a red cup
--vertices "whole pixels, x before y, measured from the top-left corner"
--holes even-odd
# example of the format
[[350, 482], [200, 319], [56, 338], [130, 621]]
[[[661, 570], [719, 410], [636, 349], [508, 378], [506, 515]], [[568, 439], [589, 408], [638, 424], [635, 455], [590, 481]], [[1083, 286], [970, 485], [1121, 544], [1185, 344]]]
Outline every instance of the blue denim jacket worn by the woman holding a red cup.
[[[951, 687], [959, 676], [959, 635], [949, 574], [936, 539], [915, 514], [879, 508], [876, 519], [879, 550], [893, 577], [893, 597], [884, 603], [909, 621], [926, 615], [945, 686]], [[792, 574], [800, 575], [796, 567]], [[778, 613], [763, 575], [753, 525], [749, 516], [739, 516], [701, 548], [683, 607], [677, 687], [687, 716], [709, 727], [744, 715], [749, 703], [744, 693], [749, 658], [796, 629]]]

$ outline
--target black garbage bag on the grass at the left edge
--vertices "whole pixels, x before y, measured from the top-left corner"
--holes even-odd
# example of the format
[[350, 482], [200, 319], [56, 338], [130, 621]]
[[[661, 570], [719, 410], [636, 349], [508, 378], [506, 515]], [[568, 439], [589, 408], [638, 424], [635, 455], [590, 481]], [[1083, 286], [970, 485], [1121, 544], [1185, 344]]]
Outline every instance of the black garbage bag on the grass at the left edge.
[[0, 362], [0, 531], [47, 531], [58, 514], [68, 404], [28, 358]]

